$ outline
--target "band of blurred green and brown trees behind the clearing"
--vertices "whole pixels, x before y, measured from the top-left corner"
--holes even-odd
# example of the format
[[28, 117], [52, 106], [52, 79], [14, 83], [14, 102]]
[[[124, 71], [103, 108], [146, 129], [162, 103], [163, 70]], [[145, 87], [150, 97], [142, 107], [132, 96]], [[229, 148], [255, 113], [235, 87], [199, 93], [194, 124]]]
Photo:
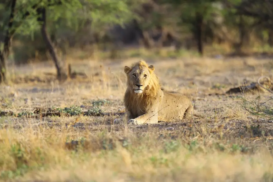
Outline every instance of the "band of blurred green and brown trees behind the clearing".
[[48, 59], [65, 80], [68, 50], [110, 52], [109, 58], [130, 48], [270, 52], [272, 9], [273, 0], [2, 0], [0, 80], [6, 64]]

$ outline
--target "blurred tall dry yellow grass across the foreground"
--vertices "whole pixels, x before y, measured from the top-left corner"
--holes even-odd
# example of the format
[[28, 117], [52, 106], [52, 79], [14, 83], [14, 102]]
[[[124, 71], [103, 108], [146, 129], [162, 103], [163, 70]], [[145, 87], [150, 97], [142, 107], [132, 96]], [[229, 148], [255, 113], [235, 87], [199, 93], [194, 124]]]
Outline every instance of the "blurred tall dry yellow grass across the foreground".
[[[113, 129], [113, 128], [112, 128]], [[72, 134], [73, 133], [73, 134]], [[77, 140], [79, 145], [76, 147]], [[0, 130], [2, 181], [271, 181], [272, 142], [191, 130]], [[68, 142], [66, 144], [66, 142]]]

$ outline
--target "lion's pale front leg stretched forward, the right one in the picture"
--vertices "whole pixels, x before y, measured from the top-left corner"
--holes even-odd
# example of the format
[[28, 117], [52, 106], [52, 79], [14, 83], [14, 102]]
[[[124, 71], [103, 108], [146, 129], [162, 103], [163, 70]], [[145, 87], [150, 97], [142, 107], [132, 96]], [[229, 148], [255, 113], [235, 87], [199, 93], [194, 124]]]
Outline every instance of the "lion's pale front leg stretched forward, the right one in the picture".
[[155, 112], [145, 113], [141, 116], [136, 117], [135, 119], [130, 119], [128, 121], [128, 124], [145, 124], [145, 123], [150, 123], [150, 124], [158, 123], [157, 113]]

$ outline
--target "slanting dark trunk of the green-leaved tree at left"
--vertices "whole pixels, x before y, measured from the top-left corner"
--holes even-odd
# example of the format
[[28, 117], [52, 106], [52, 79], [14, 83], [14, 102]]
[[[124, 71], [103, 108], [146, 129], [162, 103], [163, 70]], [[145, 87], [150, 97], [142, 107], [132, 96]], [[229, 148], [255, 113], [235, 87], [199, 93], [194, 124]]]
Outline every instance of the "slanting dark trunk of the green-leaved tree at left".
[[[57, 69], [57, 79], [59, 80], [66, 80], [67, 79], [67, 69], [65, 68], [65, 66], [62, 65], [62, 62], [58, 59], [57, 54], [53, 48], [52, 42], [48, 36], [47, 30], [46, 30], [46, 11], [45, 8], [39, 8], [39, 14], [42, 15], [42, 17], [40, 19], [38, 19], [39, 21], [42, 22], [41, 25], [41, 34], [42, 37], [45, 41], [45, 45], [46, 48], [49, 50], [49, 54], [56, 66]], [[64, 60], [65, 61], [65, 60]], [[65, 64], [64, 64], [65, 65]]]

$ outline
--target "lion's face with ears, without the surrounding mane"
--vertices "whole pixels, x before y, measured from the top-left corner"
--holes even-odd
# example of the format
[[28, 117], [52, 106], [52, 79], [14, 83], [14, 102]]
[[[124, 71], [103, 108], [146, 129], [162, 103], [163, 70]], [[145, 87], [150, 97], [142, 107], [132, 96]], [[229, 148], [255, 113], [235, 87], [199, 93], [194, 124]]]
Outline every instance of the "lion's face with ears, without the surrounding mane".
[[149, 83], [153, 70], [154, 67], [152, 65], [149, 67], [137, 65], [132, 69], [128, 66], [124, 67], [124, 72], [128, 76], [129, 87], [134, 93], [141, 94], [145, 89], [149, 89]]

